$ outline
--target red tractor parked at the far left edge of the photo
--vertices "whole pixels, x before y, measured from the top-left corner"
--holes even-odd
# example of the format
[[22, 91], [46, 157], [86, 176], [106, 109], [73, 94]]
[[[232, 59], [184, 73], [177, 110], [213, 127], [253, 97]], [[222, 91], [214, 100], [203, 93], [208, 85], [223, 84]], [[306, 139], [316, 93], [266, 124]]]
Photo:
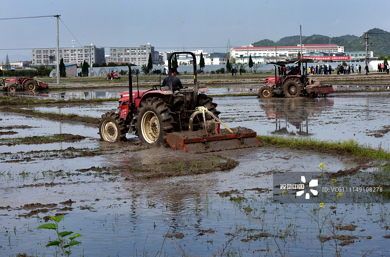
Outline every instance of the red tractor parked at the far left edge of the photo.
[[[15, 93], [16, 90], [35, 91], [36, 89], [48, 88], [49, 85], [38, 79], [33, 78], [32, 73], [37, 69], [15, 69], [16, 79], [3, 79], [0, 89]], [[30, 73], [29, 78], [20, 77], [21, 73]]]

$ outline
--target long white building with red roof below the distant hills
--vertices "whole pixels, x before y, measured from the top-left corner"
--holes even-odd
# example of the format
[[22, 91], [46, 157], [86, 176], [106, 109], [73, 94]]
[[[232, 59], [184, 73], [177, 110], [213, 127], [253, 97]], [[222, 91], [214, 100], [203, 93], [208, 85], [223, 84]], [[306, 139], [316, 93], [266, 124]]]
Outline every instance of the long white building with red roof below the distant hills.
[[[301, 55], [310, 53], [344, 53], [344, 46], [338, 46], [336, 44], [302, 44]], [[231, 57], [235, 59], [246, 58], [248, 56], [253, 57], [284, 57], [284, 58], [296, 58], [298, 53], [301, 52], [301, 45], [297, 46], [267, 46], [267, 47], [254, 47], [253, 45], [243, 45], [242, 47], [234, 47], [231, 49]]]

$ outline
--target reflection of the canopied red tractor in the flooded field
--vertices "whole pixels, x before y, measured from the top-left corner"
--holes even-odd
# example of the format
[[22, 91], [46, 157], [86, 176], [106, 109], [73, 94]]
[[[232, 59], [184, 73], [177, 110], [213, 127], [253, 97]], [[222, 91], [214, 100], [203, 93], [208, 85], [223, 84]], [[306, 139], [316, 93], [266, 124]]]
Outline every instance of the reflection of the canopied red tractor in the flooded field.
[[319, 116], [327, 108], [333, 106], [333, 99], [259, 99], [260, 107], [268, 119], [275, 120], [274, 135], [312, 136], [309, 132], [311, 117]]

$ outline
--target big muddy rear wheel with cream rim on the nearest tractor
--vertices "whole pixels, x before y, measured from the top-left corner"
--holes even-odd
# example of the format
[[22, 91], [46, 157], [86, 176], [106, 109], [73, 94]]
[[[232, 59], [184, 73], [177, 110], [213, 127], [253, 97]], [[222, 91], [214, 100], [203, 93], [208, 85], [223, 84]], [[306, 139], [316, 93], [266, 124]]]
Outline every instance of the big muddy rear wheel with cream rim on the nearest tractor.
[[173, 132], [175, 120], [170, 106], [162, 99], [147, 98], [139, 103], [137, 131], [144, 143], [162, 145], [168, 133]]

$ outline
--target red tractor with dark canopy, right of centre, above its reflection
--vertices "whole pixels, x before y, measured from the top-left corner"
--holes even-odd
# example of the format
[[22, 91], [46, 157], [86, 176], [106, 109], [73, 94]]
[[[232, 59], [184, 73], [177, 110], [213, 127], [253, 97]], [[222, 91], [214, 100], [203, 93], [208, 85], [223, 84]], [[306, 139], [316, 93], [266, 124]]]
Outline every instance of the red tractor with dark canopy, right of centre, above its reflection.
[[[319, 81], [312, 79], [312, 77], [307, 74], [307, 63], [310, 61], [312, 61], [312, 59], [290, 59], [270, 62], [269, 64], [274, 64], [275, 76], [266, 78], [264, 85], [259, 90], [258, 98], [272, 98], [273, 96], [286, 98], [301, 96], [315, 97], [318, 95], [326, 96], [329, 93], [333, 93], [333, 87], [331, 85], [321, 84]], [[305, 73], [300, 75], [298, 73], [298, 69], [295, 70], [295, 75], [287, 74], [287, 76], [277, 76], [276, 65], [283, 68], [291, 63], [306, 63]]]

